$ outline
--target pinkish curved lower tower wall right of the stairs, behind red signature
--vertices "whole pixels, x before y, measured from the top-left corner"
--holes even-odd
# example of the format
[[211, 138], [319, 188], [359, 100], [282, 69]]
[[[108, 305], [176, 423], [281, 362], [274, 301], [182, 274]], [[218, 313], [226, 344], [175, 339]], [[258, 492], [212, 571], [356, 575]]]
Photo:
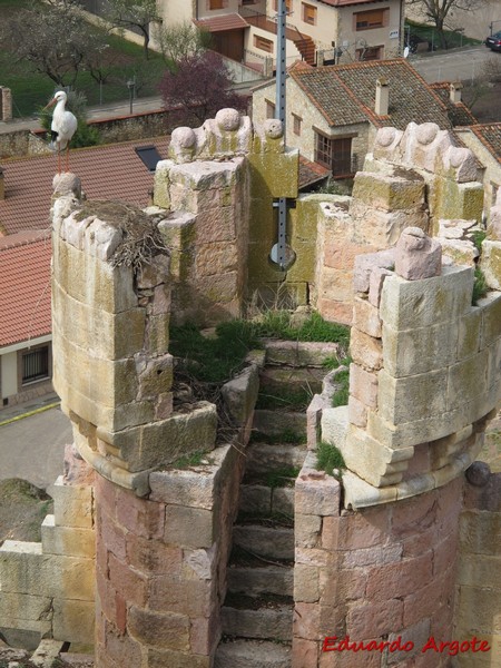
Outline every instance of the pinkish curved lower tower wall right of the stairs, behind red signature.
[[[422, 648], [451, 636], [462, 481], [353, 512], [315, 460], [308, 453], [295, 488], [293, 668], [450, 666]], [[325, 638], [346, 637], [407, 649], [324, 651]]]

